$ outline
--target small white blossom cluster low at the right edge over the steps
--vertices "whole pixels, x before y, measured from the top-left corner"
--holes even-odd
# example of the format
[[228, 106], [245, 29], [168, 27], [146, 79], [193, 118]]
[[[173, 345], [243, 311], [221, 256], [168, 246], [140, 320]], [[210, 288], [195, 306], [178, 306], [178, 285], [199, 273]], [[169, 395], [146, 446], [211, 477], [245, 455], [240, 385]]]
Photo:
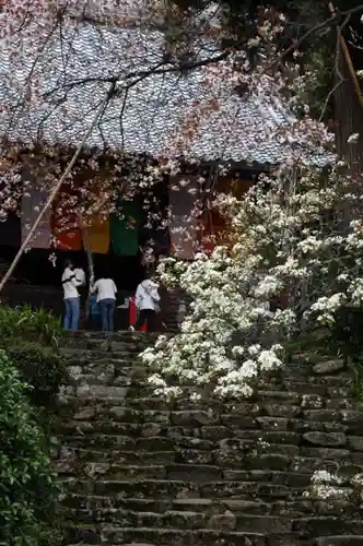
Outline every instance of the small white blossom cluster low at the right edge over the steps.
[[342, 477], [336, 472], [315, 471], [311, 487], [304, 492], [304, 497], [327, 501], [331, 507], [337, 502], [360, 506], [363, 500], [363, 474]]

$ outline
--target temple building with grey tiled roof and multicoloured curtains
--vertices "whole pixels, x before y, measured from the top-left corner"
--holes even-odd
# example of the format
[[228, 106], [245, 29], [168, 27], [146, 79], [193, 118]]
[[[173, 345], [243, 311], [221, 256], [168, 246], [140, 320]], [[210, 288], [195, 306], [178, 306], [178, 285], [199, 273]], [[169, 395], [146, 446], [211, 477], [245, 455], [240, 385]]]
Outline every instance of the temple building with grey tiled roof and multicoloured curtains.
[[[5, 48], [0, 51], [0, 80], [4, 82], [0, 86], [3, 105], [0, 134], [8, 150], [14, 146], [20, 162], [27, 158], [16, 185], [16, 206], [0, 223], [0, 260], [4, 268], [19, 250], [51, 188], [34, 175], [36, 169], [28, 170], [34, 150], [40, 157], [49, 154], [50, 149], [70, 157], [91, 127], [113, 74], [148, 69], [150, 76], [140, 82], [130, 80], [132, 85], [127, 88], [117, 82], [117, 90], [77, 164], [81, 181], [77, 181], [75, 189], [74, 183], [65, 181], [9, 283], [5, 296], [11, 302], [45, 305], [58, 312], [65, 260], [71, 257], [86, 269], [87, 250], [93, 253], [96, 270], [107, 266], [119, 290], [127, 296], [142, 278], [143, 249], [150, 241], [156, 254], [186, 260], [192, 259], [199, 249], [211, 251], [213, 245], [223, 241], [227, 226], [210, 207], [210, 195], [219, 191], [241, 195], [259, 173], [296, 152], [292, 152], [283, 136], [285, 128], [291, 126], [291, 116], [276, 99], [261, 100], [237, 92], [218, 95], [206, 82], [204, 68], [179, 76], [166, 63], [164, 73], [153, 73], [152, 67], [163, 62], [162, 33], [145, 35], [137, 28], [95, 27], [84, 22], [73, 29], [68, 25], [61, 37], [59, 33], [48, 36], [47, 47], [39, 54], [36, 43], [39, 45], [44, 38], [37, 35], [34, 50], [27, 50], [26, 58], [24, 52], [10, 56]], [[65, 58], [69, 59], [67, 67]], [[28, 100], [28, 90], [21, 85], [31, 71], [43, 103]], [[14, 94], [11, 82], [16, 80]], [[218, 107], [211, 107], [215, 100]], [[194, 123], [195, 119], [198, 123]], [[323, 153], [314, 151], [317, 161]], [[126, 198], [124, 189], [128, 176], [134, 180], [134, 165], [142, 164], [140, 173], [144, 173], [148, 165], [155, 166], [157, 162], [163, 165], [165, 157], [175, 157], [182, 167], [163, 171], [150, 187], [152, 195], [150, 188], [138, 188], [132, 199]], [[106, 212], [102, 218], [94, 215], [91, 223], [89, 218], [85, 234], [72, 206], [61, 204], [61, 199], [66, 195], [65, 202], [71, 203], [73, 198], [80, 198], [82, 185], [87, 182], [87, 162], [93, 170], [103, 165], [107, 173], [112, 166], [112, 188], [119, 195], [117, 210]], [[119, 185], [115, 164], [119, 166]], [[5, 163], [1, 173], [7, 173]], [[3, 189], [8, 178], [2, 178]], [[157, 210], [147, 217], [145, 203], [151, 202], [157, 203]], [[197, 202], [200, 213], [192, 215]]]

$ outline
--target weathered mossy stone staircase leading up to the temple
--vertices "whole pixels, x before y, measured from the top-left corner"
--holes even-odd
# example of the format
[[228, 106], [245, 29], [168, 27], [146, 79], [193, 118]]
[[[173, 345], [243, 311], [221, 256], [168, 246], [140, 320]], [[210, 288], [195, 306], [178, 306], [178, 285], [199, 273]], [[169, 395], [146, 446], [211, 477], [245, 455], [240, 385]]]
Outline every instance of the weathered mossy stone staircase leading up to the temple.
[[168, 404], [138, 360], [151, 342], [84, 333], [62, 348], [67, 545], [363, 545], [363, 510], [303, 495], [315, 470], [363, 471], [363, 406], [339, 363], [296, 359], [248, 401]]

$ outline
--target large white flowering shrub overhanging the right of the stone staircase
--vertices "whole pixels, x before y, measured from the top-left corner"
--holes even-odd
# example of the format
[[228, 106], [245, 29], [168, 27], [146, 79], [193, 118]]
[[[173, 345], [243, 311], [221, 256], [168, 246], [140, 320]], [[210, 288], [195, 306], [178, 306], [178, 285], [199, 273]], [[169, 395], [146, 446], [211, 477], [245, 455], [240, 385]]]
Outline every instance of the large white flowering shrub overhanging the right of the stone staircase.
[[[361, 204], [342, 163], [329, 171], [281, 168], [242, 201], [230, 197], [230, 248], [160, 266], [163, 281], [180, 286], [192, 304], [180, 332], [161, 336], [142, 355], [157, 394], [191, 385], [195, 400], [206, 392], [248, 396], [261, 372], [283, 365], [286, 340], [335, 328], [342, 310], [359, 309], [363, 223], [347, 222], [347, 211], [359, 217]], [[288, 304], [269, 310], [281, 294]]]

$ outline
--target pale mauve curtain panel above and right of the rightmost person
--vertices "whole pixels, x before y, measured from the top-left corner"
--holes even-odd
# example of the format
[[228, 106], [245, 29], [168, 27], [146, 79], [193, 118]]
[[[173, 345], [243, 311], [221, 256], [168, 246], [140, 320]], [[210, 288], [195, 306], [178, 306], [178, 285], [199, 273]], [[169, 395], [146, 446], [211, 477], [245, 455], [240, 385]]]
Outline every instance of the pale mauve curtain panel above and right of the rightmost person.
[[[180, 183], [183, 180], [188, 180], [188, 183]], [[195, 256], [198, 244], [198, 223], [192, 217], [197, 198], [198, 182], [196, 177], [171, 177], [171, 245], [173, 253], [185, 260]]]

